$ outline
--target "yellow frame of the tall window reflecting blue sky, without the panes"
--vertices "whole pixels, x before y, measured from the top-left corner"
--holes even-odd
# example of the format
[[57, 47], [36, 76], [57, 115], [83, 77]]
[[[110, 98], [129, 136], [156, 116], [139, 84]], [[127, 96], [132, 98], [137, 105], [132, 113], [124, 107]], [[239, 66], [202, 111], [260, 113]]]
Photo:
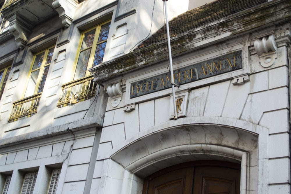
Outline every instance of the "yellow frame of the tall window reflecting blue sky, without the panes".
[[[94, 57], [95, 57], [95, 52], [96, 52], [97, 46], [100, 45], [100, 44], [102, 44], [102, 43], [104, 43], [104, 42], [107, 42], [107, 40], [108, 40], [108, 39], [106, 39], [104, 41], [98, 42], [99, 34], [100, 34], [100, 30], [101, 30], [101, 26], [103, 26], [105, 24], [108, 24], [109, 22], [111, 22], [111, 20], [107, 20], [105, 22], [102, 22], [102, 23], [98, 24], [97, 26], [94, 26], [94, 27], [89, 28], [89, 29], [87, 29], [87, 30], [85, 30], [85, 31], [82, 32], [81, 37], [80, 37], [80, 40], [79, 40], [78, 50], [77, 50], [78, 53], [77, 53], [77, 55], [75, 57], [75, 61], [74, 61], [72, 80], [75, 80], [74, 79], [74, 76], [75, 76], [75, 73], [76, 73], [76, 69], [77, 69], [77, 64], [78, 64], [78, 59], [79, 59], [80, 53], [91, 48], [91, 53], [90, 53], [90, 57], [89, 57], [89, 60], [88, 60], [88, 65], [87, 65], [87, 70], [86, 70], [85, 76], [90, 75], [89, 68], [91, 68], [93, 66], [93, 61], [94, 61]], [[90, 32], [93, 29], [96, 29], [96, 31], [95, 31], [94, 41], [93, 41], [92, 46], [91, 47], [84, 48], [84, 49], [81, 50], [82, 42], [83, 42], [83, 39], [84, 39], [85, 34], [87, 32]]]

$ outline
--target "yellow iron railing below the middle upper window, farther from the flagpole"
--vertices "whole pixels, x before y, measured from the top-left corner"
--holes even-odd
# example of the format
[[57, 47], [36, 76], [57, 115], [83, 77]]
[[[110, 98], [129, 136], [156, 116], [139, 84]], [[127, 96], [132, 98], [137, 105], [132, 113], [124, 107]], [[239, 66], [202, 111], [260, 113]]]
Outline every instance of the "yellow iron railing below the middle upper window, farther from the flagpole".
[[8, 122], [16, 121], [19, 118], [29, 117], [36, 114], [41, 94], [42, 93], [38, 93], [13, 102], [12, 111]]

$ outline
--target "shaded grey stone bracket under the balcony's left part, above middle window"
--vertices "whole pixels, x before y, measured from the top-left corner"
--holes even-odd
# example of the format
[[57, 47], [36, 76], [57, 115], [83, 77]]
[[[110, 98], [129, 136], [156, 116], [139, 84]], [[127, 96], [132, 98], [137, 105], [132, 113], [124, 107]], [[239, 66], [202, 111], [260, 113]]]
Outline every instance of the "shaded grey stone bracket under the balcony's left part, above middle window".
[[15, 37], [17, 48], [23, 49], [28, 41], [33, 25], [17, 13], [8, 18], [9, 31]]

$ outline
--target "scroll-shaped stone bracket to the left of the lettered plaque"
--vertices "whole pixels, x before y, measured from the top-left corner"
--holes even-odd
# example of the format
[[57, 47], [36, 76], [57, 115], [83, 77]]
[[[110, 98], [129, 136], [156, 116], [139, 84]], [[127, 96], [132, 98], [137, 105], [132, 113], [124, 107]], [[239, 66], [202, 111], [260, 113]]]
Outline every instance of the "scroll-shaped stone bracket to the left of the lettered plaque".
[[107, 94], [111, 98], [110, 103], [112, 107], [118, 106], [121, 101], [122, 93], [123, 93], [122, 85], [123, 84], [121, 82], [118, 82], [118, 83], [109, 85], [107, 88], [105, 88]]

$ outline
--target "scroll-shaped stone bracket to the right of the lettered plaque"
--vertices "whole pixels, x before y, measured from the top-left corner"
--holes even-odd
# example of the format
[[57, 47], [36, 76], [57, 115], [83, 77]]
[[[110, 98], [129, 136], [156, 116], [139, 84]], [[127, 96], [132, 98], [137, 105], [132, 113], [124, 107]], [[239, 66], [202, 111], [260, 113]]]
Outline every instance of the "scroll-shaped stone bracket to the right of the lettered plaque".
[[255, 52], [259, 56], [262, 67], [270, 67], [277, 58], [277, 44], [274, 34], [256, 39], [254, 42]]

